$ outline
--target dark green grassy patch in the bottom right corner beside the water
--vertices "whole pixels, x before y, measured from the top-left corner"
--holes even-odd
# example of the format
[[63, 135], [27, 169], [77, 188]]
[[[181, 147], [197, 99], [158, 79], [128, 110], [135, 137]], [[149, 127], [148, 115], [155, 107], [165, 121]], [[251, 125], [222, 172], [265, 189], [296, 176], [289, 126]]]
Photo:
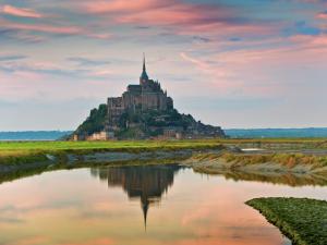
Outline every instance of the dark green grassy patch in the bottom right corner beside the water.
[[246, 204], [259, 210], [294, 245], [327, 244], [327, 201], [307, 198], [257, 198]]

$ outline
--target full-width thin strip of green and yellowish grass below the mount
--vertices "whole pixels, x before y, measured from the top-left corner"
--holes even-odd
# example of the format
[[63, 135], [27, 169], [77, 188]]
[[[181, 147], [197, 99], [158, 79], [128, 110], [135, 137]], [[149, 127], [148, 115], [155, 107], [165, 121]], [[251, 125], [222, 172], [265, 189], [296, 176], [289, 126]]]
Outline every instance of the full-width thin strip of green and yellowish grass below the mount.
[[267, 139], [189, 139], [189, 140], [119, 140], [119, 142], [0, 142], [0, 163], [41, 160], [46, 154], [85, 154], [94, 151], [150, 151], [177, 149], [208, 149], [221, 145], [262, 147], [267, 149], [327, 148], [324, 138]]

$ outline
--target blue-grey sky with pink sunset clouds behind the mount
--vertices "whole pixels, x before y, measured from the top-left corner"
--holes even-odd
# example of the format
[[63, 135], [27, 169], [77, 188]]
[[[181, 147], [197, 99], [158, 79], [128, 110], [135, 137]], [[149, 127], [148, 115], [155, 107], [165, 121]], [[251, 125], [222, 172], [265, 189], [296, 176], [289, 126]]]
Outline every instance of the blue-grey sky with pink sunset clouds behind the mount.
[[327, 123], [327, 0], [0, 0], [0, 131], [74, 130], [147, 73], [223, 128]]

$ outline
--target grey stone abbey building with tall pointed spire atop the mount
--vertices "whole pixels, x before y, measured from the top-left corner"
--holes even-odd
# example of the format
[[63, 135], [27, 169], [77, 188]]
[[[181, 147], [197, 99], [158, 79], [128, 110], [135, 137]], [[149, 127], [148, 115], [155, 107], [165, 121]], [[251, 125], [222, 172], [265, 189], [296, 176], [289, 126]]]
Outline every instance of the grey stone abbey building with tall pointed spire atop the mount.
[[162, 90], [159, 82], [148, 78], [144, 58], [140, 84], [129, 85], [121, 97], [108, 98], [108, 130], [117, 130], [119, 120], [125, 111], [142, 113], [146, 110], [168, 109], [173, 109], [173, 100]]

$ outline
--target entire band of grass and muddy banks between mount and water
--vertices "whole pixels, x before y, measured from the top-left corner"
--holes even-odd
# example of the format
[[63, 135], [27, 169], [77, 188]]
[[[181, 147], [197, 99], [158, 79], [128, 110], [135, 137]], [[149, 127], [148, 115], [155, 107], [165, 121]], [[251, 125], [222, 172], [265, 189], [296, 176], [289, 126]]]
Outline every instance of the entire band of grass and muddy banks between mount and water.
[[[228, 144], [221, 144], [227, 142]], [[193, 139], [0, 143], [0, 183], [56, 169], [174, 162], [235, 181], [327, 185], [326, 140]], [[303, 145], [304, 144], [304, 145]], [[310, 144], [310, 145], [307, 145]], [[305, 148], [303, 148], [306, 146]], [[247, 148], [246, 148], [247, 147]], [[241, 150], [245, 148], [245, 150]]]

